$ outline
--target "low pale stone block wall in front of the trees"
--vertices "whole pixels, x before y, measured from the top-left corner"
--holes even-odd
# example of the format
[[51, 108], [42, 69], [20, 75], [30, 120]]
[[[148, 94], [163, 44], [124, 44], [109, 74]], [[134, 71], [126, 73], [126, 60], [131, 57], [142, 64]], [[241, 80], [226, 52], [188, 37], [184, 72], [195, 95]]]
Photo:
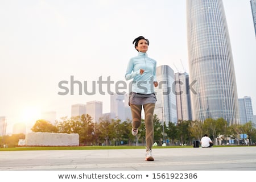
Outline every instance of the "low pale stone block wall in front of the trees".
[[42, 133], [26, 134], [26, 146], [79, 146], [79, 134]]

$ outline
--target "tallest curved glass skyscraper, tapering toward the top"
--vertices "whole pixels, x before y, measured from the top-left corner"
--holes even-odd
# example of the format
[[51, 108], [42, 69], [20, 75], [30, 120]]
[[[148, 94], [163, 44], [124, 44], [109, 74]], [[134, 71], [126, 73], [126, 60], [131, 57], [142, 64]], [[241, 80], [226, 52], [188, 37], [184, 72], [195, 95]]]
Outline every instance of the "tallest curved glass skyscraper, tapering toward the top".
[[[187, 0], [192, 119], [239, 123], [238, 97], [228, 26], [221, 0]], [[194, 92], [195, 90], [195, 92]]]

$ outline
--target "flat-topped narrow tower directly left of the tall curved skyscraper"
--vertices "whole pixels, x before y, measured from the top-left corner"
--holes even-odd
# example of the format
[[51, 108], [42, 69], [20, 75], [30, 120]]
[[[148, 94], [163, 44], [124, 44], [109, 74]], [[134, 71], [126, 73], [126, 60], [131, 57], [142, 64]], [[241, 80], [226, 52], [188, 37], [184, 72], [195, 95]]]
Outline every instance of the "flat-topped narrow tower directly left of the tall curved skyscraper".
[[175, 73], [175, 95], [177, 119], [180, 121], [191, 120], [192, 114], [188, 73]]

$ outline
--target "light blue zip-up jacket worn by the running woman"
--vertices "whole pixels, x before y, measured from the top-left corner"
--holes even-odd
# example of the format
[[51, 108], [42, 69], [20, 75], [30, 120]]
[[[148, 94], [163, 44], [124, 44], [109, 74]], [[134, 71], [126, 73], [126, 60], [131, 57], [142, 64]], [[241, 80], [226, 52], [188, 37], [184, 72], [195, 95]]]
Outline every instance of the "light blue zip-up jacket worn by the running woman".
[[[144, 69], [143, 74], [139, 73]], [[138, 56], [132, 57], [128, 63], [125, 79], [133, 78], [131, 92], [149, 94], [154, 93], [156, 81], [156, 61], [147, 56], [146, 52], [139, 52]]]

